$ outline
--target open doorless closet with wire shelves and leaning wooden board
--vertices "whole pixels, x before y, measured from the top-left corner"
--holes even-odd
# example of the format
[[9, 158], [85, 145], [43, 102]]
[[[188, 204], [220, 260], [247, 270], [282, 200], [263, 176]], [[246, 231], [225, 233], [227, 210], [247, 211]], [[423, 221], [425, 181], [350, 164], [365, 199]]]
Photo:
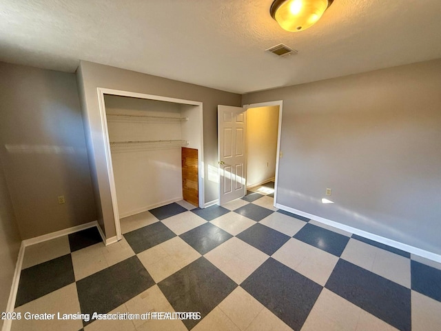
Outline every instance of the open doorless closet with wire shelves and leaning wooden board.
[[116, 234], [120, 219], [185, 200], [204, 205], [202, 103], [99, 89]]

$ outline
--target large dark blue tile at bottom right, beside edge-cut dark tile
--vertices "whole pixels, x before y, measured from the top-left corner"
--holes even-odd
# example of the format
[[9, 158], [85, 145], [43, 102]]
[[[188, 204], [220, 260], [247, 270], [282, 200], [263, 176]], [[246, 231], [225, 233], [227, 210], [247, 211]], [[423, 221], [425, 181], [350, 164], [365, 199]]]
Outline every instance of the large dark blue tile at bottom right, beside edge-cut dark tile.
[[411, 290], [340, 259], [325, 287], [402, 331], [411, 330]]

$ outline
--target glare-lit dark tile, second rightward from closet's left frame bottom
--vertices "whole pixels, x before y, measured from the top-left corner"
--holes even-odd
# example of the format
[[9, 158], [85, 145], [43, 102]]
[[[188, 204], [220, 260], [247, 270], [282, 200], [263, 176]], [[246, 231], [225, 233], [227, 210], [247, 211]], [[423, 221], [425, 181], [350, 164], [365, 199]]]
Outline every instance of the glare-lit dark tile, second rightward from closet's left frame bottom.
[[212, 223], [205, 223], [179, 237], [199, 253], [205, 254], [233, 236]]

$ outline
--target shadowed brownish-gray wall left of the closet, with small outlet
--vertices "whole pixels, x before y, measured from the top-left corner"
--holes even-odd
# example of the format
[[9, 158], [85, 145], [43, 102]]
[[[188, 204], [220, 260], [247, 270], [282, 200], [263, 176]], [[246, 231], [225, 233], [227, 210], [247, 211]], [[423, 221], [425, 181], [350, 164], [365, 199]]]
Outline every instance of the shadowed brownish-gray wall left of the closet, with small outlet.
[[96, 220], [75, 74], [0, 63], [0, 102], [0, 157], [21, 238]]

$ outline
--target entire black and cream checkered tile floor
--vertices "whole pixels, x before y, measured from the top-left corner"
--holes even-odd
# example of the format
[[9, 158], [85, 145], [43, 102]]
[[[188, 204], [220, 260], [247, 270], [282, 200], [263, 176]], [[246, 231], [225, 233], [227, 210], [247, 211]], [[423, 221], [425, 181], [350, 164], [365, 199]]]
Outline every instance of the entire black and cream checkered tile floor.
[[180, 201], [26, 248], [17, 312], [201, 312], [201, 320], [25, 320], [12, 330], [441, 330], [441, 264], [273, 207], [271, 183]]

